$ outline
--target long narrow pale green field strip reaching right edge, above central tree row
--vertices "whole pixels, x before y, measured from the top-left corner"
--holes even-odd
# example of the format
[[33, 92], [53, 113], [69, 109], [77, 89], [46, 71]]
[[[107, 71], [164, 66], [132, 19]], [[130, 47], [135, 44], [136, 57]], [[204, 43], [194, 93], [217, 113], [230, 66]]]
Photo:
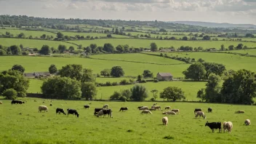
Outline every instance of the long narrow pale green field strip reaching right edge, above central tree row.
[[95, 39], [92, 41], [72, 41], [76, 44], [82, 44], [83, 46], [89, 46], [89, 44], [97, 44], [103, 46], [106, 43], [111, 43], [113, 46], [119, 44], [128, 44], [129, 47], [150, 47], [152, 42], [155, 42], [158, 47], [175, 47], [189, 46], [189, 47], [203, 47], [204, 49], [215, 47], [220, 49], [222, 44], [225, 47], [229, 45], [237, 46], [238, 44], [247, 45], [247, 47], [256, 47], [254, 42], [241, 42], [241, 41], [171, 41], [171, 40], [151, 40], [151, 39]]

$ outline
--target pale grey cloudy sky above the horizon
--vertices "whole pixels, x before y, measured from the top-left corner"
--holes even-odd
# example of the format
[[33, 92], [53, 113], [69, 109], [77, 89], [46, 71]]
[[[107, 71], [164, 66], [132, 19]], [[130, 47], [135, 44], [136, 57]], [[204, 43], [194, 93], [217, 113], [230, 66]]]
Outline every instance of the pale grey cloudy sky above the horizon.
[[0, 15], [256, 24], [256, 0], [0, 0]]

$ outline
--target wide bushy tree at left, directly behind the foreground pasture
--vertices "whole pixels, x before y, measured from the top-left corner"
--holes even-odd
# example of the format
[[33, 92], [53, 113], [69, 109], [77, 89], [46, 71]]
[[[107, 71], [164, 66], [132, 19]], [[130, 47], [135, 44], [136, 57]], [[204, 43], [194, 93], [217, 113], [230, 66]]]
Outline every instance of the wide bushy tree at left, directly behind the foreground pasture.
[[41, 86], [44, 98], [76, 100], [81, 97], [81, 83], [71, 78], [54, 77]]

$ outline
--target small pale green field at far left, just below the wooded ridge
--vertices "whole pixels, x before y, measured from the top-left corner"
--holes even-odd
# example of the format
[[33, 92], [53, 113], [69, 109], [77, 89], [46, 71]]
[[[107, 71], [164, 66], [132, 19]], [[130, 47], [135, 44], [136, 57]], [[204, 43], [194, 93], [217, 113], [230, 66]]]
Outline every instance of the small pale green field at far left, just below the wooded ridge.
[[20, 33], [24, 33], [25, 37], [33, 36], [33, 38], [36, 38], [36, 37], [40, 38], [40, 36], [43, 34], [56, 37], [55, 33], [49, 33], [47, 31], [25, 31], [25, 30], [18, 30], [18, 29], [17, 30], [0, 29], [0, 35], [2, 35], [2, 34], [5, 35], [6, 32], [13, 34], [13, 36], [17, 36]]

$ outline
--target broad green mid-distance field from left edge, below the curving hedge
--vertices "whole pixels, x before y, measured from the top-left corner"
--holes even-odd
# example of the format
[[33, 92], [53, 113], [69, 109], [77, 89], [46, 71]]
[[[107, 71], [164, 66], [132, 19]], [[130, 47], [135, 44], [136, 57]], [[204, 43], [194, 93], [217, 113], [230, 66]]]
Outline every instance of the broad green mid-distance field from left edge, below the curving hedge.
[[[152, 56], [152, 59], [155, 56]], [[12, 65], [20, 64], [25, 68], [25, 72], [48, 71], [49, 65], [55, 64], [61, 68], [68, 64], [81, 64], [84, 68], [91, 68], [93, 73], [100, 73], [105, 68], [111, 69], [113, 66], [121, 66], [124, 69], [124, 76], [137, 76], [144, 70], [150, 70], [156, 76], [158, 72], [169, 72], [174, 77], [182, 77], [188, 64], [183, 65], [156, 65], [147, 63], [130, 63], [122, 61], [95, 60], [81, 57], [28, 57], [28, 56], [4, 56], [0, 57], [0, 71], [12, 68]]]

